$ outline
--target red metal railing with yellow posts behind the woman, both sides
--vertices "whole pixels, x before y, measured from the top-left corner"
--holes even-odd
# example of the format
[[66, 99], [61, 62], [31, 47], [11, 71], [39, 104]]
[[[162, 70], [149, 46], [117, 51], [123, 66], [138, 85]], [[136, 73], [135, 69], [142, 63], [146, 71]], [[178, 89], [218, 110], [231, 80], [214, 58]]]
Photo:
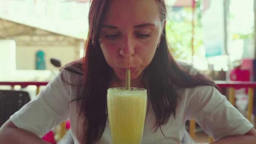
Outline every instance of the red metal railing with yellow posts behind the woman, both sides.
[[[239, 81], [215, 81], [216, 84], [220, 88], [229, 88], [229, 102], [232, 105], [235, 105], [235, 88], [248, 88], [248, 110], [247, 110], [247, 119], [251, 121], [251, 114], [253, 112], [253, 88], [256, 88], [256, 82], [239, 82]], [[39, 87], [41, 85], [47, 85], [48, 82], [0, 82], [0, 85], [11, 85], [13, 88], [15, 85], [28, 86], [28, 85], [36, 85], [37, 86], [37, 94], [39, 93]], [[65, 125], [61, 124], [61, 134], [60, 136], [64, 136], [65, 134]], [[189, 134], [195, 139], [195, 120], [190, 120], [189, 122]], [[213, 139], [209, 137], [209, 142], [212, 142]]]

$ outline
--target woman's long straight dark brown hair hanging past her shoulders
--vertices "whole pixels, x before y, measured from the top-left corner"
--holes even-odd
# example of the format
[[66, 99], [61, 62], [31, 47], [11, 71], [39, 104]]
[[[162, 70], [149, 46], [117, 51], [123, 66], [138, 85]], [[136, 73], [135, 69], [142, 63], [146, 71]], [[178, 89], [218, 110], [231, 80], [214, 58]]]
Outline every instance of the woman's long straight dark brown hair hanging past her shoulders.
[[[156, 0], [160, 8], [161, 20], [165, 21], [164, 0]], [[83, 144], [94, 144], [101, 138], [107, 122], [107, 88], [113, 70], [104, 59], [99, 44], [104, 14], [109, 0], [92, 0], [89, 11], [89, 32], [82, 62], [73, 63], [83, 69], [84, 91], [75, 99], [80, 101], [80, 116], [83, 116], [84, 133], [80, 136]], [[68, 67], [66, 69], [69, 69]], [[69, 69], [72, 71], [72, 69]], [[176, 115], [179, 95], [176, 88], [193, 88], [199, 85], [213, 85], [213, 81], [198, 73], [190, 75], [181, 69], [171, 56], [163, 29], [160, 44], [149, 66], [144, 69], [147, 79], [148, 99], [155, 112], [155, 128], [168, 122]], [[216, 86], [217, 88], [217, 86]]]

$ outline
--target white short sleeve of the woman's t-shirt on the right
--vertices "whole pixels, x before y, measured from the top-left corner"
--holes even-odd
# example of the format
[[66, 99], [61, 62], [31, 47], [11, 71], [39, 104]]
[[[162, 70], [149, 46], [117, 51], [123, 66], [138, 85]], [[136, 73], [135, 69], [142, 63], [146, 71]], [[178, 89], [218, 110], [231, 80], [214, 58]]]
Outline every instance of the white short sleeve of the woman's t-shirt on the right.
[[225, 136], [243, 135], [253, 125], [227, 101], [213, 86], [198, 86], [187, 90], [189, 104], [187, 114], [214, 140]]

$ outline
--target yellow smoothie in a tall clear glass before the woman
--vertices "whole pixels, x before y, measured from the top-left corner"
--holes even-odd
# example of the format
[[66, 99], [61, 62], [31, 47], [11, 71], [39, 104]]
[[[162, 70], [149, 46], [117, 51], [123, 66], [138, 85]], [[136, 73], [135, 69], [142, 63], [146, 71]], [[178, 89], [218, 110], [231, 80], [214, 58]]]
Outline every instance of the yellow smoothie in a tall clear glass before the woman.
[[108, 120], [113, 144], [140, 144], [147, 109], [147, 90], [109, 88]]

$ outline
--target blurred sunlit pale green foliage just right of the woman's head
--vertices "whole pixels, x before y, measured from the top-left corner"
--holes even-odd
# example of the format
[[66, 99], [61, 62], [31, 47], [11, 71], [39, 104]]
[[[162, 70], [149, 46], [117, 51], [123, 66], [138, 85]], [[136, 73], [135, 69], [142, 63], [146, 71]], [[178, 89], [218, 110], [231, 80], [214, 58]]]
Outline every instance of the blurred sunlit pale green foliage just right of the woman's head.
[[[171, 20], [166, 21], [166, 37], [175, 59], [189, 60], [192, 55], [192, 8], [182, 8], [181, 13], [183, 13], [181, 20], [175, 20], [173, 16]], [[195, 14], [195, 18], [197, 18], [197, 15]], [[200, 21], [195, 19], [195, 54], [197, 54], [201, 45], [203, 45], [202, 26]]]

